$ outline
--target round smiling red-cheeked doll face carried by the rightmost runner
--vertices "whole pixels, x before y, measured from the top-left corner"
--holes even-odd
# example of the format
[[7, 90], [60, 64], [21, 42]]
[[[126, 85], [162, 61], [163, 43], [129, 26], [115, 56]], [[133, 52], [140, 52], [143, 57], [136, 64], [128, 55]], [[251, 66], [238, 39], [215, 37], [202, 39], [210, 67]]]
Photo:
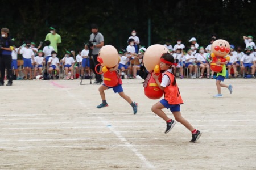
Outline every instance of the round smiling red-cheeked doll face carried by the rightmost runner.
[[224, 57], [230, 52], [229, 42], [226, 40], [216, 40], [212, 43], [212, 53], [216, 56]]

